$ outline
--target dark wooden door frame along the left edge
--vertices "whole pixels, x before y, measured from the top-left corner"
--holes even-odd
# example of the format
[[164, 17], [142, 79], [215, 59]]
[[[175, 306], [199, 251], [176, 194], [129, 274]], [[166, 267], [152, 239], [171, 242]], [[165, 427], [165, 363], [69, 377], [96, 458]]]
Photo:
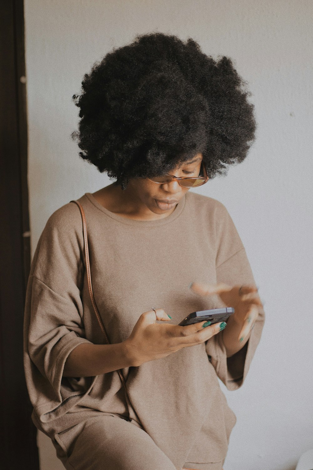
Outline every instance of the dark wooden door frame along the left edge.
[[1, 468], [38, 470], [23, 372], [30, 269], [23, 0], [0, 2], [0, 442]]

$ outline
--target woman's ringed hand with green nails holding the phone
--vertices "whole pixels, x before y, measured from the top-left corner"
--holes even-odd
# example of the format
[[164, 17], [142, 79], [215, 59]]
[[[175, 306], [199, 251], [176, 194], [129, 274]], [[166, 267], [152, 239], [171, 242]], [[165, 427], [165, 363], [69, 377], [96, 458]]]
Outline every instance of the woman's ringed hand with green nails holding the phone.
[[162, 308], [142, 313], [130, 336], [124, 341], [135, 367], [166, 357], [179, 349], [204, 343], [221, 331], [221, 323], [225, 325], [219, 322], [202, 328], [206, 321], [179, 326], [157, 323], [157, 320], [166, 322], [170, 318]]

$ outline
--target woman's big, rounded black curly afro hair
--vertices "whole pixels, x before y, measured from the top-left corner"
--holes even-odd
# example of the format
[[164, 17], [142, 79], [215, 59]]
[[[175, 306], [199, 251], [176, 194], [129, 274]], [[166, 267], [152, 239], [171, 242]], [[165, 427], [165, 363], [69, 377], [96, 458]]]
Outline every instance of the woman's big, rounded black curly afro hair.
[[84, 75], [71, 135], [80, 157], [122, 189], [198, 153], [212, 178], [242, 162], [255, 138], [250, 95], [228, 57], [215, 61], [191, 38], [137, 35]]

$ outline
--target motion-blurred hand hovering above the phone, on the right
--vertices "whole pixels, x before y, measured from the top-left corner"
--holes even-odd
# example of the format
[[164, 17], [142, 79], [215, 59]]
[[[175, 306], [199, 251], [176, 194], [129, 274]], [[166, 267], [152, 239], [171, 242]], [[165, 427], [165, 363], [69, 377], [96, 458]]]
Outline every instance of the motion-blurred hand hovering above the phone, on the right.
[[236, 333], [239, 331], [237, 341], [240, 343], [247, 339], [253, 328], [254, 322], [259, 315], [259, 306], [262, 302], [258, 295], [258, 289], [252, 285], [228, 284], [205, 284], [202, 282], [193, 282], [190, 286], [193, 292], [202, 295], [218, 295], [227, 307], [233, 307], [233, 313], [227, 323], [236, 325]]

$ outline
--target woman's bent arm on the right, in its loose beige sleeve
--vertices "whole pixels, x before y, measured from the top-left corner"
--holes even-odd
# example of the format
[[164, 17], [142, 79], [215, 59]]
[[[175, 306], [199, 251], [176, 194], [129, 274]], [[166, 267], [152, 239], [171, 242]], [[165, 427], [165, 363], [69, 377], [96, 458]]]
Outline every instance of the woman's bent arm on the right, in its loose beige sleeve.
[[[227, 306], [233, 306], [235, 312], [237, 310], [237, 313], [240, 314], [234, 313], [233, 318], [229, 318], [227, 321], [226, 328], [206, 342], [206, 352], [221, 381], [229, 390], [236, 390], [243, 384], [249, 370], [260, 341], [265, 315], [257, 295], [252, 270], [236, 227], [228, 211], [221, 204], [217, 214], [215, 225], [217, 240], [216, 282], [232, 286], [233, 292], [230, 290], [229, 298], [225, 298], [225, 296], [220, 296], [220, 298], [223, 303], [226, 301]], [[250, 290], [243, 288], [241, 294], [244, 295], [240, 299], [242, 304], [247, 301], [246, 306], [249, 305], [249, 295], [258, 299], [250, 312], [245, 308], [241, 308], [241, 312], [238, 312], [240, 306], [238, 305], [239, 288], [242, 285], [251, 286]], [[245, 299], [244, 296], [246, 296]], [[233, 297], [233, 301], [230, 297]], [[244, 305], [241, 306], [244, 307]], [[240, 341], [241, 338], [243, 338], [242, 341]]]

